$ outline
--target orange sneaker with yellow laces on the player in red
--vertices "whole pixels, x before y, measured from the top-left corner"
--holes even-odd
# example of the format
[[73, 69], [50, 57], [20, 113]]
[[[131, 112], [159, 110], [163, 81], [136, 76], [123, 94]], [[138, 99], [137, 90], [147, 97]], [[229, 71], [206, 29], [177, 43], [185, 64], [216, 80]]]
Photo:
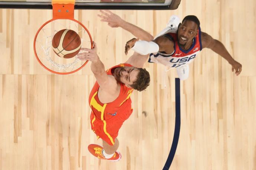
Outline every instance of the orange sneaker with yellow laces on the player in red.
[[102, 149], [103, 149], [103, 147], [101, 147], [97, 144], [90, 144], [88, 146], [89, 152], [93, 156], [95, 156], [99, 159], [105, 159], [105, 160], [109, 160], [109, 161], [112, 161], [112, 162], [116, 162], [116, 161], [119, 161], [122, 158], [122, 155], [120, 154], [120, 152], [115, 151], [114, 155], [111, 158], [106, 159], [102, 154]]

